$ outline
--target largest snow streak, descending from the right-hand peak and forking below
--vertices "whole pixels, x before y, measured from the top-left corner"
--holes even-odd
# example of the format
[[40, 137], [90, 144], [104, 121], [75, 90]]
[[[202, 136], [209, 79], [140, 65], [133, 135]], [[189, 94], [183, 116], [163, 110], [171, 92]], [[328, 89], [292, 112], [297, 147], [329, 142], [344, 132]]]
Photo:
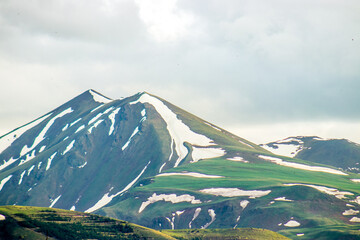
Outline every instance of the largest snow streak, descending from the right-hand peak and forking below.
[[159, 99], [144, 93], [138, 101], [133, 102], [132, 104], [137, 102], [151, 104], [166, 122], [167, 130], [171, 139], [175, 142], [175, 151], [178, 155], [178, 159], [176, 160], [174, 167], [177, 167], [188, 154], [188, 150], [184, 146], [184, 142], [203, 147], [214, 145], [214, 141], [210, 138], [193, 132]]

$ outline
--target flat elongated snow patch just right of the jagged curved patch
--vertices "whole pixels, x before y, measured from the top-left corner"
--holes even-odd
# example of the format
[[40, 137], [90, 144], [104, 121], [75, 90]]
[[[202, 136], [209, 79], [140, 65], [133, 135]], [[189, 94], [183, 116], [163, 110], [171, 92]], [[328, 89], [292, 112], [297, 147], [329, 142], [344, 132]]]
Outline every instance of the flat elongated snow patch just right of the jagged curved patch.
[[240, 197], [248, 196], [249, 198], [257, 198], [268, 195], [271, 190], [241, 190], [239, 188], [206, 188], [200, 190], [202, 193], [212, 194], [222, 197]]

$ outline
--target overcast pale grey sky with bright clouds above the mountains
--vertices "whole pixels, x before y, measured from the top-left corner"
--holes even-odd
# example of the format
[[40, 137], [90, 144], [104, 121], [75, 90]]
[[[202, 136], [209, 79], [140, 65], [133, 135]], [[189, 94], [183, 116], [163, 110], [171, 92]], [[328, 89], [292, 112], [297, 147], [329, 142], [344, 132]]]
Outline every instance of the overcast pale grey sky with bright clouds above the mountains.
[[360, 143], [358, 0], [1, 0], [0, 135], [88, 89], [266, 143]]

